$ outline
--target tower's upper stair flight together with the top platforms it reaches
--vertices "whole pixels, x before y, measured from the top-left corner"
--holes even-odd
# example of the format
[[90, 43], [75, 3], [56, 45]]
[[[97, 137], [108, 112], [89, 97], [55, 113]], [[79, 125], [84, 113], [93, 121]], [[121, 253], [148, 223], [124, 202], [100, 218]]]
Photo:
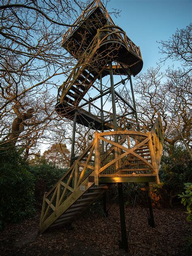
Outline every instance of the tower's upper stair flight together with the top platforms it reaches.
[[[93, 5], [89, 15], [86, 16], [87, 23], [69, 30], [62, 42], [62, 46], [77, 59], [75, 68], [59, 87], [55, 106], [56, 111], [68, 119], [73, 119], [75, 113], [82, 110], [79, 103], [96, 79], [109, 75], [109, 62], [116, 63], [112, 69], [117, 75], [127, 76], [129, 72], [135, 76], [143, 67], [140, 48], [128, 38], [126, 32], [115, 26], [109, 15], [106, 18], [102, 3], [101, 6]], [[89, 23], [95, 19], [98, 23], [89, 28]], [[89, 36], [82, 38], [83, 33]]]

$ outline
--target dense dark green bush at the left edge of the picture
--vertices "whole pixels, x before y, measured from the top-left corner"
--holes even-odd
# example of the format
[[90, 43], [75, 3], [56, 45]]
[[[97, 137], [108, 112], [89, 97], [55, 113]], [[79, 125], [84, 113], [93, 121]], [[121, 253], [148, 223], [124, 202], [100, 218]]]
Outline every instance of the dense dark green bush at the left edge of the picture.
[[0, 220], [18, 222], [34, 213], [34, 176], [13, 146], [0, 148]]

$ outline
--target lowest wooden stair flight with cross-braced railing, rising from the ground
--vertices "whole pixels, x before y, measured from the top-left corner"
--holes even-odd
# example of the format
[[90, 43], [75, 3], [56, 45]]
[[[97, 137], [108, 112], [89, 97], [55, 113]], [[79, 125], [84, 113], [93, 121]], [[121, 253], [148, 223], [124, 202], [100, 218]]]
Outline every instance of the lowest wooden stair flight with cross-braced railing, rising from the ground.
[[79, 156], [43, 198], [39, 232], [70, 223], [91, 205], [110, 184], [94, 183], [94, 142]]

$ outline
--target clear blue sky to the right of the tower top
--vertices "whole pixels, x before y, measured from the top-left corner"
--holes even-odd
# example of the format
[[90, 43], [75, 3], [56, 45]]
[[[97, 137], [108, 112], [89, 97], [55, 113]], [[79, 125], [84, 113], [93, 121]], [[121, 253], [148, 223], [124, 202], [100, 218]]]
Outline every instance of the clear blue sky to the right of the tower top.
[[156, 41], [169, 39], [177, 28], [186, 28], [192, 22], [191, 0], [111, 0], [107, 9], [111, 12], [112, 8], [121, 11], [117, 19], [111, 15], [115, 24], [141, 48], [141, 72], [156, 66], [161, 58]]

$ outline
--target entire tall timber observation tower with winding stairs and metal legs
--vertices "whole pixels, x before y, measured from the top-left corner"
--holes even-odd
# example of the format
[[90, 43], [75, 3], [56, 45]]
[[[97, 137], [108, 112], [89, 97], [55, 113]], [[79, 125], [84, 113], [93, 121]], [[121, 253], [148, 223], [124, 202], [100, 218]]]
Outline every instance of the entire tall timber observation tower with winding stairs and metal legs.
[[[70, 224], [102, 194], [107, 213], [105, 192], [117, 183], [119, 246], [128, 251], [122, 186], [145, 182], [149, 224], [154, 226], [149, 182], [159, 181], [161, 119], [158, 116], [150, 127], [140, 126], [131, 76], [143, 67], [141, 51], [115, 25], [100, 0], [87, 6], [73, 25], [63, 36], [62, 47], [76, 65], [59, 87], [55, 107], [63, 118], [73, 120], [71, 166], [45, 193], [39, 230]], [[78, 127], [84, 132], [80, 142]], [[83, 149], [85, 141], [89, 143]]]

